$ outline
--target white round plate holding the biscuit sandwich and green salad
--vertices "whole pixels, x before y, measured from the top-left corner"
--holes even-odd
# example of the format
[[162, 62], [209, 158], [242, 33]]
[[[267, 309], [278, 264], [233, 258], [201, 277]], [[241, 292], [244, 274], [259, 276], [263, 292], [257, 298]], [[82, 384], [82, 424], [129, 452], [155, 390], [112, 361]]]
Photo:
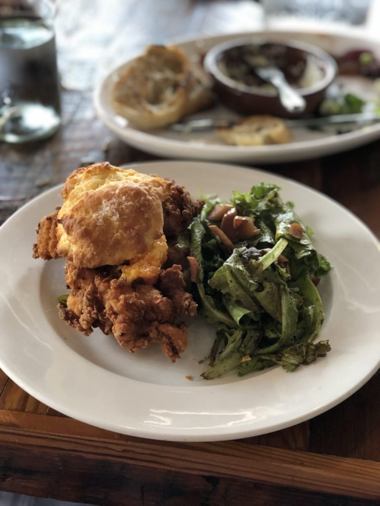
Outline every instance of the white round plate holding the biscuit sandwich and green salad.
[[[175, 364], [154, 346], [130, 354], [100, 330], [86, 337], [58, 317], [64, 262], [33, 260], [34, 228], [61, 202], [53, 188], [0, 229], [0, 367], [40, 401], [89, 424], [168, 440], [221, 440], [268, 433], [311, 418], [355, 392], [380, 360], [380, 251], [371, 232], [346, 209], [305, 186], [243, 167], [160, 161], [137, 170], [175, 179], [198, 196], [229, 198], [261, 181], [276, 183], [315, 231], [334, 266], [320, 284], [329, 339], [325, 358], [295, 372], [274, 367], [242, 378], [199, 379], [214, 329], [188, 324], [189, 347]], [[186, 375], [193, 375], [188, 381]]]

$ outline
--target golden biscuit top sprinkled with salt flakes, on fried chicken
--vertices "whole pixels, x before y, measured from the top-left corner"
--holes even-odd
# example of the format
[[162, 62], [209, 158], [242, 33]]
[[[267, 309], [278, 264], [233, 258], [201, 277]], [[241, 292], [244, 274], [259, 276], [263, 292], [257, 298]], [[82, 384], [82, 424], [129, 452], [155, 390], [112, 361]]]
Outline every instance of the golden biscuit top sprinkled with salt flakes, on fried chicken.
[[119, 265], [163, 235], [161, 178], [96, 163], [74, 171], [62, 190], [57, 251], [78, 267]]

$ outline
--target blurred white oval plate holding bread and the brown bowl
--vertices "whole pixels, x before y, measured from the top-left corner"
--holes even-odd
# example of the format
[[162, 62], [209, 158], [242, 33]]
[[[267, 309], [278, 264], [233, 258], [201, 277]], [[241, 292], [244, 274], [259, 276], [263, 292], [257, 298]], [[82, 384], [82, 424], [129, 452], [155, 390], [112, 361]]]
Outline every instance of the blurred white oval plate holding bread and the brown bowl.
[[[217, 35], [211, 37], [199, 37], [178, 43], [193, 61], [198, 61], [214, 45], [236, 37], [247, 37], [252, 33], [239, 33], [229, 35]], [[373, 43], [358, 36], [343, 36], [332, 33], [305, 33], [305, 32], [255, 32], [255, 36], [268, 37], [272, 40], [293, 38], [314, 44], [331, 53], [334, 56], [343, 55], [352, 49], [372, 50], [380, 57], [379, 43]], [[260, 162], [278, 163], [293, 161], [317, 156], [324, 156], [353, 149], [380, 137], [380, 123], [356, 130], [346, 134], [336, 135], [312, 131], [308, 129], [294, 129], [293, 139], [290, 144], [272, 146], [227, 146], [218, 140], [212, 132], [197, 133], [191, 135], [176, 134], [168, 130], [156, 130], [141, 132], [128, 125], [125, 118], [113, 112], [109, 97], [111, 87], [117, 80], [129, 62], [112, 71], [100, 83], [94, 94], [95, 109], [99, 118], [112, 132], [126, 143], [142, 151], [155, 155], [173, 158], [189, 158], [234, 162]], [[363, 77], [338, 78], [347, 91], [357, 93], [360, 97], [373, 98], [372, 83]], [[218, 106], [210, 111], [194, 114], [192, 118], [202, 117], [231, 117], [237, 116], [227, 109]]]

